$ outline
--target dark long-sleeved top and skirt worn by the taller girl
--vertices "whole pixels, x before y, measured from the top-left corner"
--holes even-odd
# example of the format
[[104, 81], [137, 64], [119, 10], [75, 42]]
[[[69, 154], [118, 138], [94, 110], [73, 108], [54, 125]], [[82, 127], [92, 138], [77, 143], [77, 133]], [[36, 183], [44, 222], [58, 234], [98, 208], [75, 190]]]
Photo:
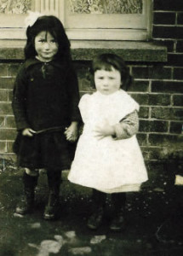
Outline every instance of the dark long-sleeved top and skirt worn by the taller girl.
[[[20, 67], [14, 84], [12, 108], [19, 131], [14, 143], [20, 166], [28, 168], [67, 168], [71, 162], [71, 143], [64, 131], [71, 121], [80, 120], [76, 73], [66, 61], [27, 60]], [[21, 131], [59, 131], [23, 137]]]

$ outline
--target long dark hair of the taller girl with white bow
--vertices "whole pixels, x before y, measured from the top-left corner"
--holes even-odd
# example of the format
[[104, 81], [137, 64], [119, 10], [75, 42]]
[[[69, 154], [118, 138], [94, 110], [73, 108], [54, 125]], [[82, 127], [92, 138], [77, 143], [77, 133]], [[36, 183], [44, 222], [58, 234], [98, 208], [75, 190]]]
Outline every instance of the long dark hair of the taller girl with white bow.
[[53, 15], [43, 15], [39, 17], [32, 26], [26, 29], [26, 47], [24, 49], [26, 59], [37, 55], [34, 41], [40, 32], [49, 32], [59, 45], [59, 49], [55, 57], [71, 59], [70, 41], [66, 36], [64, 26], [61, 21]]

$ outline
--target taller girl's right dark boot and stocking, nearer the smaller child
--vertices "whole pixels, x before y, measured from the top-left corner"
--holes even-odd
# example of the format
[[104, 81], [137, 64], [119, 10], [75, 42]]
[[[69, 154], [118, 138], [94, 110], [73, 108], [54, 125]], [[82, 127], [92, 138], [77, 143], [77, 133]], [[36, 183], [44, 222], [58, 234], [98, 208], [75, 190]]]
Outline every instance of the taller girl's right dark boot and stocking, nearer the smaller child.
[[49, 201], [43, 213], [43, 218], [47, 220], [53, 220], [58, 217], [60, 198], [60, 175], [60, 171], [47, 172], [49, 183]]

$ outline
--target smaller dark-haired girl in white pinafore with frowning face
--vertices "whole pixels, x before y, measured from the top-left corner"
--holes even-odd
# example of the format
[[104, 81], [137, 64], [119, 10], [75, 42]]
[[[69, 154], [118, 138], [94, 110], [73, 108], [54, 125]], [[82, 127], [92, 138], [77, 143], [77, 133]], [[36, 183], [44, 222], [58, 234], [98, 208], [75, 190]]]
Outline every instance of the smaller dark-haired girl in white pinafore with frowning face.
[[102, 223], [106, 195], [112, 194], [111, 230], [123, 230], [126, 192], [139, 191], [147, 180], [146, 166], [135, 134], [139, 104], [125, 92], [131, 84], [129, 69], [118, 55], [97, 56], [91, 79], [96, 88], [79, 102], [83, 134], [68, 179], [93, 189], [94, 212], [88, 227]]

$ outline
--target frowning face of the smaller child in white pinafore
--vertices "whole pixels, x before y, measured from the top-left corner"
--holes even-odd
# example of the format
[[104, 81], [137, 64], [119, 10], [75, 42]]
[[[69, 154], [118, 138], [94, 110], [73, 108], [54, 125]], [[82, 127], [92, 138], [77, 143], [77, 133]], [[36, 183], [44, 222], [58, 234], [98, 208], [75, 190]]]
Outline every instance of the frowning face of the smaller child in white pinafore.
[[96, 70], [94, 84], [96, 90], [99, 90], [101, 94], [110, 95], [120, 89], [122, 84], [121, 73], [114, 67], [112, 67], [112, 71]]

